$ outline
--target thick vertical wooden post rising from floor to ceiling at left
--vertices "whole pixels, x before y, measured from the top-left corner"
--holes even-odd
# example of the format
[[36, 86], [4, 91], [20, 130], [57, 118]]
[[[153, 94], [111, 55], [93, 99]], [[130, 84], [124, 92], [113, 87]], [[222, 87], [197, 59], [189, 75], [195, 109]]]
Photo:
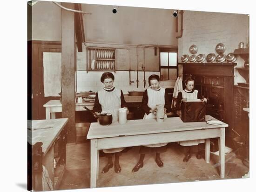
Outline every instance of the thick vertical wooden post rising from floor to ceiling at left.
[[[74, 9], [73, 3], [61, 5]], [[74, 13], [61, 9], [62, 118], [68, 118], [67, 142], [75, 142], [75, 36]]]

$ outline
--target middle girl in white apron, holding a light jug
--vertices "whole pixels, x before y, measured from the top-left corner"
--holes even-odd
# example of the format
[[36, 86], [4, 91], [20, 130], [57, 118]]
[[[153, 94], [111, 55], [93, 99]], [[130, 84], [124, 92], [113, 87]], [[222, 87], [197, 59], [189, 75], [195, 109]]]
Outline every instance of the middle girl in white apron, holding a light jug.
[[[145, 90], [141, 108], [145, 111], [143, 119], [156, 118], [156, 104], [164, 105], [165, 118], [167, 118], [166, 112], [170, 108], [170, 102], [168, 100], [168, 94], [164, 88], [160, 87], [160, 78], [158, 75], [151, 75], [148, 77], [150, 87]], [[151, 152], [156, 153], [155, 162], [159, 167], [163, 166], [163, 162], [160, 159], [160, 153], [166, 152], [167, 143], [158, 143], [152, 145], [145, 145], [140, 147], [140, 160], [133, 168], [132, 172], [137, 172], [143, 167], [143, 160], [146, 154]]]

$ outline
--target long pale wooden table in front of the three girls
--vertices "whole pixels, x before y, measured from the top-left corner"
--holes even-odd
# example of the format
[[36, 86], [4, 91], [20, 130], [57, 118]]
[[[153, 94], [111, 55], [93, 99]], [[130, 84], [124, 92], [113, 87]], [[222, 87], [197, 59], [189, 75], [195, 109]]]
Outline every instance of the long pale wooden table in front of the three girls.
[[[206, 115], [207, 120], [216, 120]], [[118, 122], [110, 126], [91, 123], [87, 139], [91, 140], [91, 187], [96, 187], [99, 172], [99, 150], [141, 146], [165, 142], [189, 141], [205, 139], [205, 160], [209, 163], [210, 138], [219, 139], [220, 177], [225, 176], [225, 127], [229, 125], [209, 125], [206, 122], [184, 123], [180, 117], [164, 119], [156, 122], [155, 119], [130, 120], [121, 125]], [[170, 170], [171, 171], [171, 170]]]

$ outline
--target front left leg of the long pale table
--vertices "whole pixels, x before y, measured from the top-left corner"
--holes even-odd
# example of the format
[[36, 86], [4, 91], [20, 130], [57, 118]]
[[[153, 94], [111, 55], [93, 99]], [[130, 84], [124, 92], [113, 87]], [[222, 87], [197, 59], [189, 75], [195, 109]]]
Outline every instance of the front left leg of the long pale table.
[[91, 140], [91, 188], [96, 187], [98, 154], [99, 154], [99, 151], [98, 151], [97, 139], [92, 139]]

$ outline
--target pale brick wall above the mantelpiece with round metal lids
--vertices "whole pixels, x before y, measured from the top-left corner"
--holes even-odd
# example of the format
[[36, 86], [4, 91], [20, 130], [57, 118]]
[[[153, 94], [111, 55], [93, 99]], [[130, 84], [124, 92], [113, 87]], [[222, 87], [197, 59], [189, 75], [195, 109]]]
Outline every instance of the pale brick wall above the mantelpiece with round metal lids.
[[[218, 43], [226, 46], [226, 55], [239, 48], [239, 42], [244, 42], [245, 46], [249, 44], [249, 16], [245, 14], [184, 11], [183, 29], [183, 36], [178, 41], [179, 62], [183, 54], [191, 55], [189, 47], [193, 44], [198, 47], [197, 55], [217, 54]], [[236, 63], [236, 67], [243, 67], [244, 60], [238, 57]], [[235, 70], [236, 82], [245, 80]]]

